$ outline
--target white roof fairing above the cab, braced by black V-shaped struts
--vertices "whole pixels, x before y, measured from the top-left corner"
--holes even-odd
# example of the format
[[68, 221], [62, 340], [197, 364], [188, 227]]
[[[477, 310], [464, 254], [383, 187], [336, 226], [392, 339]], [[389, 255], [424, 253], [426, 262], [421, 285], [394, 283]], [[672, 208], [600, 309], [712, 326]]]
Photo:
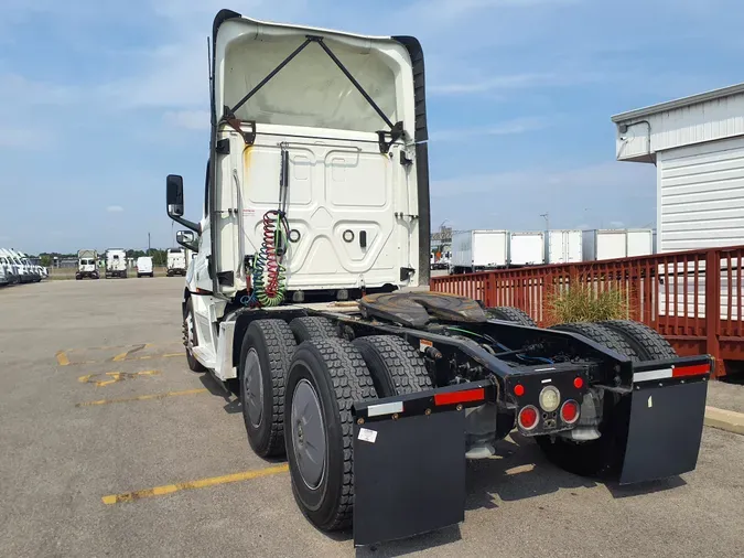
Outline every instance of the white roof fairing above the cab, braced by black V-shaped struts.
[[[417, 130], [413, 64], [392, 37], [363, 36], [308, 26], [261, 22], [220, 12], [214, 24], [213, 124], [302, 45], [322, 37], [387, 118]], [[235, 111], [239, 120], [377, 132], [389, 126], [331, 56], [310, 43]]]

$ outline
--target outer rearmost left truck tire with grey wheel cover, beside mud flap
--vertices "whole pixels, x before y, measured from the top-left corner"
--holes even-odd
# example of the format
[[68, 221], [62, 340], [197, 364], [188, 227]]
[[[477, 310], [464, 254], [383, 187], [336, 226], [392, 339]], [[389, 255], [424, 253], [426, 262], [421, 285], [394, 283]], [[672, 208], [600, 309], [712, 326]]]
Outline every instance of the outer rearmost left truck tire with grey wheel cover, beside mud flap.
[[322, 530], [352, 524], [352, 404], [376, 398], [369, 371], [348, 341], [305, 341], [294, 352], [284, 406], [287, 457], [294, 498]]

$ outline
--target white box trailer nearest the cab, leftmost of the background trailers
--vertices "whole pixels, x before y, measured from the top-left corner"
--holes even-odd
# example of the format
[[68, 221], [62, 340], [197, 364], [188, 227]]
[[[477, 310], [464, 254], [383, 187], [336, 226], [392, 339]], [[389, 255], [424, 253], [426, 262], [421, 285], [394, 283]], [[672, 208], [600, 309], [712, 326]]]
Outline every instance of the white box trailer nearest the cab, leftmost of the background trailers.
[[460, 230], [452, 234], [454, 273], [506, 267], [509, 262], [508, 230]]

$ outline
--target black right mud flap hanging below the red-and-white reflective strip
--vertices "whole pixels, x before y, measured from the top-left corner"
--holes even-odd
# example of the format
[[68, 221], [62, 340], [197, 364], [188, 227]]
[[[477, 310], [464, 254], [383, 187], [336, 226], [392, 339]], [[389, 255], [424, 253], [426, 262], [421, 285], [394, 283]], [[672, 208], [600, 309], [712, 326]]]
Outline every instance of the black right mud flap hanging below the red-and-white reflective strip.
[[708, 382], [636, 384], [621, 484], [666, 479], [694, 470], [700, 451]]

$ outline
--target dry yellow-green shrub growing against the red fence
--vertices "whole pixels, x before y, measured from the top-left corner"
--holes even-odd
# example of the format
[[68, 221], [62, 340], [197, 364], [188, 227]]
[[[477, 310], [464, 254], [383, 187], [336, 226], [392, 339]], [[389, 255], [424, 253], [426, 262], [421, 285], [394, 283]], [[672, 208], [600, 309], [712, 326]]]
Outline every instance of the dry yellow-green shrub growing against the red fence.
[[615, 287], [600, 291], [596, 283], [559, 287], [548, 299], [548, 318], [551, 323], [627, 320], [627, 292]]

